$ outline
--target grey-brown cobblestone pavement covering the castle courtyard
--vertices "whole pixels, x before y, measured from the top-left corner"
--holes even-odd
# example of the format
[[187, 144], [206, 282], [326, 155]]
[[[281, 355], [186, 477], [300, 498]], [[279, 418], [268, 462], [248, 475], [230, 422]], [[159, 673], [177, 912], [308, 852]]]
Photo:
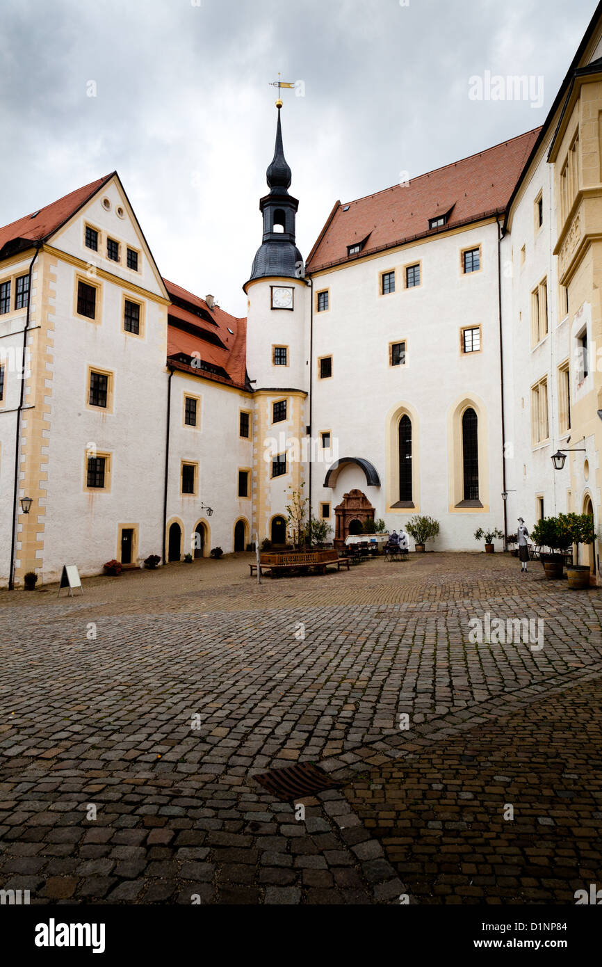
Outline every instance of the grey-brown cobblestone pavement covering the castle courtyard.
[[[95, 578], [81, 599], [0, 593], [0, 888], [571, 902], [569, 872], [602, 883], [597, 589], [502, 555], [261, 586], [248, 560]], [[471, 643], [486, 613], [542, 620], [541, 642]], [[304, 822], [252, 779], [297, 761], [343, 785]]]

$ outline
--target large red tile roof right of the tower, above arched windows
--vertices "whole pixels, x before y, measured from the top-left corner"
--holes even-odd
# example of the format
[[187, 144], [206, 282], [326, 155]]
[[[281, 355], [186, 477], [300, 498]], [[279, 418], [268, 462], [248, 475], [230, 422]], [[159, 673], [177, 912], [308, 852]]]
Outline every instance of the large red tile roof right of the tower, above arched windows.
[[[429, 234], [429, 219], [451, 215], [445, 228], [466, 224], [481, 216], [502, 213], [541, 129], [504, 141], [471, 158], [413, 178], [357, 201], [338, 202], [309, 253], [309, 272], [360, 258], [371, 251], [389, 249]], [[344, 211], [345, 208], [347, 211]], [[360, 255], [347, 255], [347, 247], [367, 241]]]

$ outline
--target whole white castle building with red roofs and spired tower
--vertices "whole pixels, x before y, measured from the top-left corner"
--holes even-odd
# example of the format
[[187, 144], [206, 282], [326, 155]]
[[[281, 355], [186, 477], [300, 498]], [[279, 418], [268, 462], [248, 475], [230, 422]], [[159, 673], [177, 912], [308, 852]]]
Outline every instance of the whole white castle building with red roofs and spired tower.
[[0, 228], [2, 584], [283, 543], [294, 490], [337, 545], [598, 525], [600, 8], [541, 128], [337, 201], [305, 260], [281, 107], [244, 319], [161, 277], [116, 172]]

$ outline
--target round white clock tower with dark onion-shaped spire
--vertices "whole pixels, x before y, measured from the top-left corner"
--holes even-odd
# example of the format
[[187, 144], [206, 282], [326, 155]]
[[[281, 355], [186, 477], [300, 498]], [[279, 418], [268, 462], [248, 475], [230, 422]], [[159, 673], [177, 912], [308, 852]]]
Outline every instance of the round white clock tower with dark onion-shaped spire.
[[253, 530], [260, 542], [283, 541], [291, 489], [305, 478], [309, 389], [309, 288], [295, 241], [299, 201], [289, 194], [291, 169], [284, 157], [280, 111], [269, 193], [259, 202], [263, 240], [244, 284], [247, 296], [246, 368], [254, 386]]

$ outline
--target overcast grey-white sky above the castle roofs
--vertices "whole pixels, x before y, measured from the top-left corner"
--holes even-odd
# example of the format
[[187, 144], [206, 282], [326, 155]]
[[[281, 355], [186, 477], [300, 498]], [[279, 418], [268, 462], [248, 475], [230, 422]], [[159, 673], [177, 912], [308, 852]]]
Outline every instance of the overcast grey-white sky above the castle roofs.
[[[595, 6], [2, 0], [0, 223], [117, 169], [161, 273], [244, 315], [278, 72], [304, 84], [282, 125], [306, 256], [337, 199], [541, 124]], [[486, 71], [543, 76], [543, 106], [471, 100]]]

